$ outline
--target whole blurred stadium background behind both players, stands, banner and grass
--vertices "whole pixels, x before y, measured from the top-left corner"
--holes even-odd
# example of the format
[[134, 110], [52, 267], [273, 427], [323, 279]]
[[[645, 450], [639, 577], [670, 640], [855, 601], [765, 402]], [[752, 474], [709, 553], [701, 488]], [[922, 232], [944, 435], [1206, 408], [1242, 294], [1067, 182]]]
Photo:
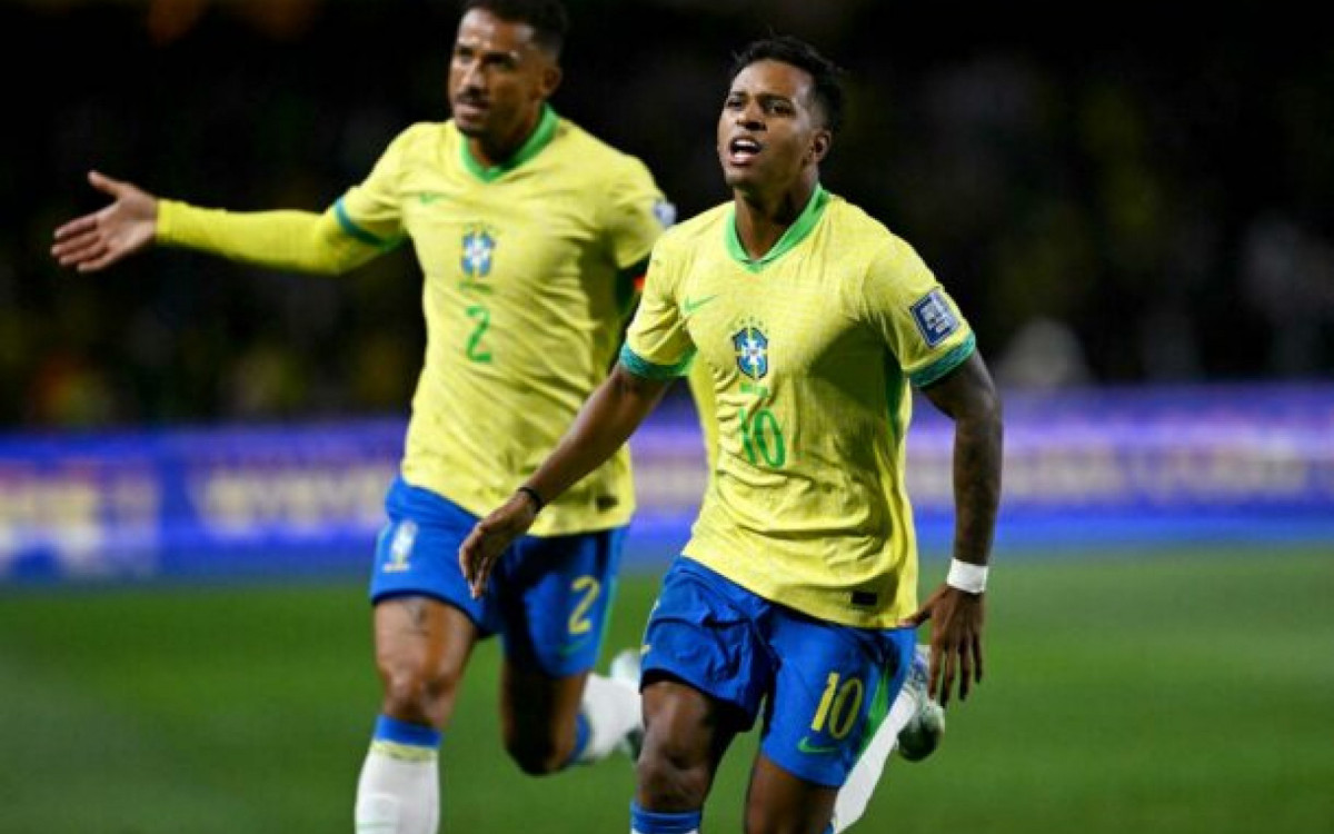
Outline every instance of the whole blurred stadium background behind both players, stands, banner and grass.
[[[1334, 829], [1323, 29], [1255, 3], [570, 5], [558, 109], [682, 216], [726, 197], [730, 52], [774, 29], [838, 57], [827, 184], [923, 252], [1005, 387], [988, 681], [864, 829]], [[324, 207], [443, 117], [455, 19], [0, 3], [0, 831], [346, 830], [376, 699], [362, 578], [422, 350], [410, 254], [336, 280], [167, 251], [79, 278], [47, 247], [101, 204], [89, 167]], [[678, 396], [636, 438], [614, 646], [684, 535], [692, 419]], [[910, 440], [927, 575], [947, 428], [923, 408]], [[447, 743], [446, 823], [623, 830], [628, 769], [532, 782], [503, 759], [494, 665]], [[712, 830], [738, 829], [743, 765]]]

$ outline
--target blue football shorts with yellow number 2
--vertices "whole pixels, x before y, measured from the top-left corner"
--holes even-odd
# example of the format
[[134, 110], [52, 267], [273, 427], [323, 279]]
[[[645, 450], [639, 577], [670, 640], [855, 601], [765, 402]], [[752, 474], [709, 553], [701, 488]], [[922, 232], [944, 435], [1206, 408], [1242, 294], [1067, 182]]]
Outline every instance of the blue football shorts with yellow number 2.
[[371, 602], [424, 595], [468, 615], [483, 637], [499, 634], [510, 662], [552, 677], [598, 662], [624, 527], [523, 536], [496, 562], [480, 599], [459, 567], [459, 546], [478, 516], [402, 478], [384, 499], [390, 516], [375, 547]]

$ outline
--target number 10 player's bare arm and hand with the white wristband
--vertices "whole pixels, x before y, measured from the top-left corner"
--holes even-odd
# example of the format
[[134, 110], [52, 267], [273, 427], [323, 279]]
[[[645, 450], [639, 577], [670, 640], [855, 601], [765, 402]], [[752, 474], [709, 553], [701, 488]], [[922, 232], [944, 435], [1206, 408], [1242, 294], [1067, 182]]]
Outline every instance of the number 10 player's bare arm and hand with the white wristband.
[[[923, 394], [954, 420], [954, 559], [986, 567], [1000, 504], [1000, 398], [976, 352]], [[944, 583], [906, 620], [931, 620], [930, 691], [942, 705], [955, 679], [960, 701], [982, 681], [984, 614], [983, 592]]]

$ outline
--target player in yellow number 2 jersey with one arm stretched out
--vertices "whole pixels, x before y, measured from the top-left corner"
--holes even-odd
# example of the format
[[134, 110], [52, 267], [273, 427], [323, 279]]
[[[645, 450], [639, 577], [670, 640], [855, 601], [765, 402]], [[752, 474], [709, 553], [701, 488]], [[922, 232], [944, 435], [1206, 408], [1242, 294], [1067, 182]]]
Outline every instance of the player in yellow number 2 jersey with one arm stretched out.
[[93, 173], [115, 201], [56, 232], [105, 268], [153, 243], [338, 274], [411, 240], [426, 364], [371, 579], [382, 714], [356, 826], [426, 834], [438, 747], [475, 643], [500, 634], [504, 745], [531, 774], [610, 754], [642, 729], [635, 682], [590, 674], [634, 510], [627, 454], [554, 499], [474, 599], [458, 562], [478, 515], [560, 439], [615, 363], [670, 205], [647, 168], [559, 117], [567, 28], [555, 0], [470, 0], [450, 67], [452, 120], [400, 133], [323, 214], [232, 214]]

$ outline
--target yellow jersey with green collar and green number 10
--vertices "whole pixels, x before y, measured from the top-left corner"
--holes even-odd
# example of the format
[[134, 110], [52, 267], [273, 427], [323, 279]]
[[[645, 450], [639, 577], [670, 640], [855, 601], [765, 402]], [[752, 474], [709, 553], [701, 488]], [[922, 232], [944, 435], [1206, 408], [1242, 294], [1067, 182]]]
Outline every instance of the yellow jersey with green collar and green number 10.
[[716, 460], [683, 552], [820, 619], [883, 629], [911, 614], [908, 386], [972, 351], [912, 247], [823, 188], [758, 260], [731, 204], [670, 230], [620, 362], [652, 378], [704, 363], [694, 372], [712, 380]]

